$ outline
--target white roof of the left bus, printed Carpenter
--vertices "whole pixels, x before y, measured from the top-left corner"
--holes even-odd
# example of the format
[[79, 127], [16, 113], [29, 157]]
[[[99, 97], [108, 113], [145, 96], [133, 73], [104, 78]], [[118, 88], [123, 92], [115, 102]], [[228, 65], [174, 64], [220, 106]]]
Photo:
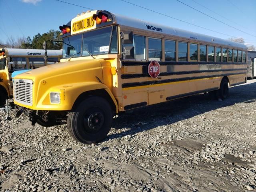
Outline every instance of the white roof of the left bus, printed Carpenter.
[[[45, 56], [44, 49], [0, 48], [6, 56]], [[61, 56], [62, 50], [47, 50], [47, 56]]]

